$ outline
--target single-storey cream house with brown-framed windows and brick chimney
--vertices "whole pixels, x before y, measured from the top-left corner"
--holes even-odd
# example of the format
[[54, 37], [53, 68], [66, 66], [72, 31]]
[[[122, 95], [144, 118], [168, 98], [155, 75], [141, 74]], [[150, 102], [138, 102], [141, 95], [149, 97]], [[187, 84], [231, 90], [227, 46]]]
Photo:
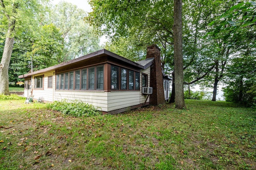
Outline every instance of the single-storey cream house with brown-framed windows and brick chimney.
[[143, 61], [133, 62], [102, 49], [19, 78], [25, 78], [27, 98], [80, 100], [110, 114], [163, 104], [170, 96], [171, 79], [162, 70], [156, 45], [147, 47]]

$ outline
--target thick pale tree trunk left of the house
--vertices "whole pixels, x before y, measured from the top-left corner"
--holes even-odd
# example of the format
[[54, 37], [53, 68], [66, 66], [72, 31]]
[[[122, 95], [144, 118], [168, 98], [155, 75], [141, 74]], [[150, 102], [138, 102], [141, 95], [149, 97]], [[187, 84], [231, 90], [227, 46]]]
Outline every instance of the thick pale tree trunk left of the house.
[[[9, 29], [7, 35], [10, 35], [11, 31], [12, 30]], [[6, 36], [4, 53], [3, 53], [1, 65], [0, 65], [0, 94], [4, 94], [4, 95], [10, 95], [8, 68], [11, 60], [13, 44], [14, 44], [14, 37]]]

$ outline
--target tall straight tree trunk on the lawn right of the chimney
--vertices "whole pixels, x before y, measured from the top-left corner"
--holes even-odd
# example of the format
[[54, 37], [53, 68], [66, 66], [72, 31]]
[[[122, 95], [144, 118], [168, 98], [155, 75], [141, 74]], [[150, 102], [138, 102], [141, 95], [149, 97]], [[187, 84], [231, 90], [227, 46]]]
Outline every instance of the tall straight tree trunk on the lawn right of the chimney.
[[183, 56], [182, 56], [182, 0], [174, 0], [174, 74], [175, 74], [175, 107], [185, 108], [183, 89]]

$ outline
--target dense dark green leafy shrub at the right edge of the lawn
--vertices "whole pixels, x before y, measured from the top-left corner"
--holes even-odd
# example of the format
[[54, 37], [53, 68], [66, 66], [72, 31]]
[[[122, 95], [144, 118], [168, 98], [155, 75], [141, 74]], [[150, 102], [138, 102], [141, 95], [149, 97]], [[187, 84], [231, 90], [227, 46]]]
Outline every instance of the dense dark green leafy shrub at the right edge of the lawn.
[[228, 102], [240, 103], [247, 107], [256, 104], [256, 60], [254, 51], [246, 50], [244, 54], [235, 56], [228, 65], [223, 89], [224, 97]]

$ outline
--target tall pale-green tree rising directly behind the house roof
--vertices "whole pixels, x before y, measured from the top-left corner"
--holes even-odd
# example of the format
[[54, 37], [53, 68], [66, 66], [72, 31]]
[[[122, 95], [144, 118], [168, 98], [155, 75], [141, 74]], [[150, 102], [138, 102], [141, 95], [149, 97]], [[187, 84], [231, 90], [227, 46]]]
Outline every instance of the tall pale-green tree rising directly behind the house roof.
[[50, 21], [60, 29], [63, 53], [59, 62], [69, 61], [100, 49], [100, 39], [93, 27], [84, 22], [87, 14], [84, 10], [68, 2], [55, 5], [49, 15]]

